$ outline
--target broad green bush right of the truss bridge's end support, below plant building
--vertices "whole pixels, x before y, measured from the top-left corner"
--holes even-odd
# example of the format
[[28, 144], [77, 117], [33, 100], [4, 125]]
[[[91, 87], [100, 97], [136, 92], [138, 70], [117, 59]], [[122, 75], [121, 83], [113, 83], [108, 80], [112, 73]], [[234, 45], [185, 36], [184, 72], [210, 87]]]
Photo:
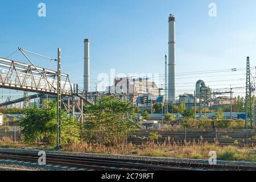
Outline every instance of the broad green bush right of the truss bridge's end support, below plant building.
[[126, 136], [138, 126], [136, 110], [129, 101], [102, 97], [100, 102], [85, 109], [89, 116], [84, 125], [85, 139], [96, 137], [99, 143], [117, 145], [125, 142]]

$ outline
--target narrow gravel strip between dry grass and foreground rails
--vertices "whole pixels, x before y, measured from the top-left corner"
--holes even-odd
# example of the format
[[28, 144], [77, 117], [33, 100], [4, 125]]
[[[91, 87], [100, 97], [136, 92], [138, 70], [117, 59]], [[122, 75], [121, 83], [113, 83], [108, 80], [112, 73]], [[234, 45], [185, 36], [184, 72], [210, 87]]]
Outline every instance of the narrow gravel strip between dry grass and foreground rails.
[[[16, 148], [0, 148], [0, 151], [16, 151], [16, 152], [28, 152], [38, 154], [40, 150], [28, 150], [28, 149], [16, 149]], [[109, 155], [109, 154], [89, 154], [79, 152], [63, 152], [63, 151], [46, 151], [46, 154], [53, 155], [68, 155], [68, 156], [84, 156], [104, 159], [127, 159], [127, 160], [152, 160], [156, 162], [177, 162], [177, 163], [203, 163], [209, 164], [208, 160], [203, 159], [176, 159], [176, 158], [158, 158], [158, 157], [147, 157], [147, 156], [131, 156], [131, 155]], [[47, 156], [46, 156], [47, 158]], [[254, 162], [242, 162], [242, 161], [225, 161], [217, 160], [217, 164], [222, 165], [236, 165], [236, 166], [251, 166], [256, 167]]]

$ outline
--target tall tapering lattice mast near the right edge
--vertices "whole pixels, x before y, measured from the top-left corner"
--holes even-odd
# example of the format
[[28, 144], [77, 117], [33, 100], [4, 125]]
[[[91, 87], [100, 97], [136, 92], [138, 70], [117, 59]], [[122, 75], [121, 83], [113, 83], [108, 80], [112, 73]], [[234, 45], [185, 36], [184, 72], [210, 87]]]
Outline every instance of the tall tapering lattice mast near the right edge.
[[245, 127], [247, 123], [253, 127], [253, 118], [251, 111], [251, 78], [250, 78], [250, 57], [246, 60], [246, 96], [245, 96]]

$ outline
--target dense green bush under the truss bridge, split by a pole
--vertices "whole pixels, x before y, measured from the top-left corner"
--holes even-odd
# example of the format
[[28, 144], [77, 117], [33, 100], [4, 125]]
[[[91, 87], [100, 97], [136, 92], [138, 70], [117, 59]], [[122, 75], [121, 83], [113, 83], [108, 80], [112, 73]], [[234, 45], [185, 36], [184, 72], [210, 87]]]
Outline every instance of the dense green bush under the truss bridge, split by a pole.
[[[25, 118], [20, 122], [23, 127], [24, 142], [26, 143], [55, 143], [57, 106], [53, 102], [42, 108], [32, 107], [25, 110]], [[63, 144], [79, 140], [79, 123], [73, 121], [67, 113], [61, 111], [61, 141]]]

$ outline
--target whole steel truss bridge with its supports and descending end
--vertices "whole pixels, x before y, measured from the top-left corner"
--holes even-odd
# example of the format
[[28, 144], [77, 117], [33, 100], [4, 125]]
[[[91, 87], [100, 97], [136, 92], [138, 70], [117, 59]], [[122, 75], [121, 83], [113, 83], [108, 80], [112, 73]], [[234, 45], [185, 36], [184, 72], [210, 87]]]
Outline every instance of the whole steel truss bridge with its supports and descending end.
[[[36, 67], [24, 52], [33, 53], [38, 56], [42, 55], [26, 51], [22, 48], [19, 48], [19, 51], [22, 52], [31, 64], [0, 57], [0, 88], [24, 91], [24, 97], [14, 101], [6, 101], [0, 104], [0, 106], [7, 106], [23, 101], [24, 107], [26, 107], [25, 104], [27, 100], [31, 98], [40, 97], [45, 94], [47, 96], [49, 94], [57, 97], [58, 72]], [[42, 57], [56, 61], [46, 56]], [[77, 86], [71, 84], [69, 75], [60, 73], [59, 78], [61, 107], [67, 110], [68, 113], [76, 116], [78, 120], [82, 122], [82, 103], [85, 101], [85, 104], [91, 104], [91, 102], [87, 101], [85, 97], [82, 96], [82, 93], [78, 93]], [[38, 94], [27, 96], [27, 94], [25, 94], [26, 92], [35, 92]]]

